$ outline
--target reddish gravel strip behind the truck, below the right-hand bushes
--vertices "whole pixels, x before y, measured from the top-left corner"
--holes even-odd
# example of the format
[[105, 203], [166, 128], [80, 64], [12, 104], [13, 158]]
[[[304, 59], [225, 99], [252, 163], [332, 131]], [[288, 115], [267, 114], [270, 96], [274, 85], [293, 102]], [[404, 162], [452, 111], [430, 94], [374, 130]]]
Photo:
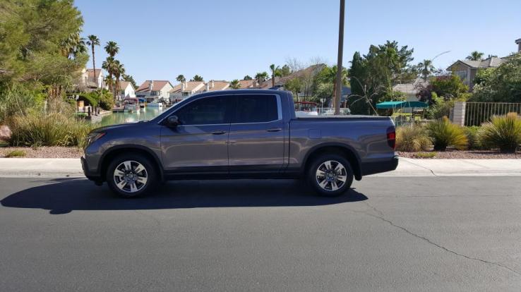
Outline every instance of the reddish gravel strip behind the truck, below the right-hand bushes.
[[[435, 153], [431, 157], [431, 153]], [[448, 150], [445, 152], [397, 152], [400, 157], [419, 158], [419, 159], [521, 159], [521, 152], [501, 153], [496, 151], [457, 151]]]

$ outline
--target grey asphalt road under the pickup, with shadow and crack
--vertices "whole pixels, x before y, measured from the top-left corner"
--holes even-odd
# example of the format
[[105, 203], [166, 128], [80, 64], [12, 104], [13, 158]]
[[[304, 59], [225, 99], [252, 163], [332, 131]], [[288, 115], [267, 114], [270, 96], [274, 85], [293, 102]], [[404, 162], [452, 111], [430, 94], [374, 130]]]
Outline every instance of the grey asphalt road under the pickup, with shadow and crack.
[[0, 178], [0, 291], [521, 291], [521, 179]]

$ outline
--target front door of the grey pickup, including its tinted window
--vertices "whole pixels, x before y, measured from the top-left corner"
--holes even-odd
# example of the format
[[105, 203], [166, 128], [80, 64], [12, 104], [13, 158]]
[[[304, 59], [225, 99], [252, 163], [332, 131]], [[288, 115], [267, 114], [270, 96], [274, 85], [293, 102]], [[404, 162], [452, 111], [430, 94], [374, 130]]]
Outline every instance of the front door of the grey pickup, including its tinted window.
[[202, 97], [172, 113], [179, 126], [161, 131], [165, 170], [227, 173], [232, 98]]

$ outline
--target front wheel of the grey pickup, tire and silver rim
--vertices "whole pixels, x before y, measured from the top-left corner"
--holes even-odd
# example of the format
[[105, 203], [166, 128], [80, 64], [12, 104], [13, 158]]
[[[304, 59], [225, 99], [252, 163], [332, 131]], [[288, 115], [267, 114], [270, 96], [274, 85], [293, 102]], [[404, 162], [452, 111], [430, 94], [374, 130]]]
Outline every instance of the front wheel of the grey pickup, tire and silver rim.
[[139, 197], [157, 187], [157, 171], [150, 159], [139, 154], [121, 154], [107, 167], [105, 174], [112, 192], [121, 197]]

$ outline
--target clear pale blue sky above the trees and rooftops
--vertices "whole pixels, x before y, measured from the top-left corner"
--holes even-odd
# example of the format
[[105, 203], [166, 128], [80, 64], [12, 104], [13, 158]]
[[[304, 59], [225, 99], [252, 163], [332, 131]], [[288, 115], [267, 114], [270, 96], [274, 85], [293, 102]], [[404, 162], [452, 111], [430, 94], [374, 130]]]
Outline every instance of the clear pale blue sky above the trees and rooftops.
[[[288, 58], [336, 62], [338, 0], [159, 1], [76, 0], [83, 35], [119, 44], [137, 83], [184, 74], [205, 80], [241, 79]], [[505, 56], [521, 38], [521, 1], [347, 0], [345, 66], [354, 51], [387, 39], [414, 48], [414, 63], [447, 67], [470, 51]], [[97, 48], [97, 66], [106, 57]], [[89, 65], [89, 68], [92, 65]]]

